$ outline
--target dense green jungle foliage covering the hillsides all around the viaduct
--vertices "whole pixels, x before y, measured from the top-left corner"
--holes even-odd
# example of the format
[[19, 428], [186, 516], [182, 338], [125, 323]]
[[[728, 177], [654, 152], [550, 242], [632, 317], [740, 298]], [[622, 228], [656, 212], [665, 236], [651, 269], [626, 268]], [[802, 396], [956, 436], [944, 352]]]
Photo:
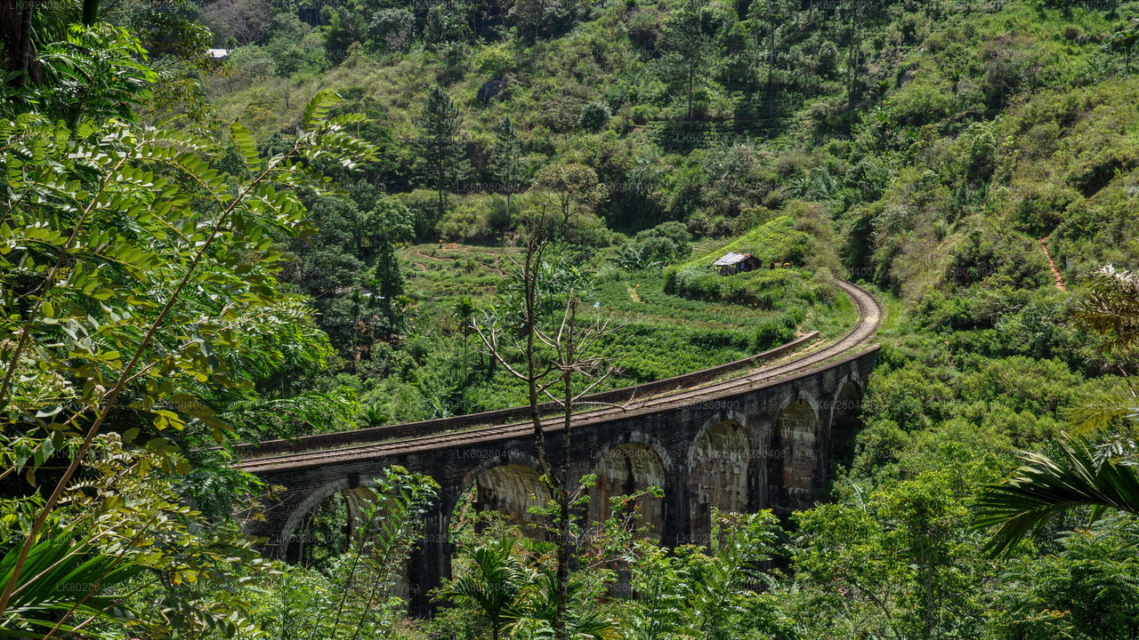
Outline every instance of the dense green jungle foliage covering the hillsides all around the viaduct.
[[[0, 635], [1139, 637], [1139, 2], [0, 0]], [[527, 273], [535, 328], [612, 322], [599, 389], [875, 292], [827, 491], [667, 548], [656, 489], [589, 522], [596, 478], [547, 474], [525, 527], [453, 514], [431, 620], [429, 477], [263, 556], [237, 445], [525, 404], [483, 338]]]

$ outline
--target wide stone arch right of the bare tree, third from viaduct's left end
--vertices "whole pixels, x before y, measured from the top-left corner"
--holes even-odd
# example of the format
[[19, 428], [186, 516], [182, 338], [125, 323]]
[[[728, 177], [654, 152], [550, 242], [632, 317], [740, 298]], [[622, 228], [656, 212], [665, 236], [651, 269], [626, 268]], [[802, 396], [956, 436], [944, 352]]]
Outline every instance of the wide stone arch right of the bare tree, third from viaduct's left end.
[[[650, 486], [667, 486], [667, 453], [644, 434], [633, 433], [628, 442], [614, 444], [593, 465], [597, 484], [589, 492], [589, 519], [598, 523], [609, 517], [609, 498], [644, 491]], [[646, 495], [638, 501], [641, 520], [648, 535], [661, 540], [664, 532], [664, 500]]]

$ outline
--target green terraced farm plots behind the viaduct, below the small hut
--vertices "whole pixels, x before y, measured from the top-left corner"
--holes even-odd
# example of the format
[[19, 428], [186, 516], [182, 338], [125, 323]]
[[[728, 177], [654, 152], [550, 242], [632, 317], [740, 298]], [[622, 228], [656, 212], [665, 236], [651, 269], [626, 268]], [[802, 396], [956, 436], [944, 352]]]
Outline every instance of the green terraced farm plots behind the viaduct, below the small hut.
[[[498, 285], [513, 269], [517, 247], [474, 247], [456, 244], [415, 245], [402, 252], [408, 263], [408, 292], [417, 300], [419, 331], [458, 333], [452, 314], [461, 297], [476, 306], [494, 304]], [[601, 257], [600, 260], [604, 260]], [[789, 274], [780, 274], [780, 281]], [[806, 278], [795, 273], [797, 282]], [[583, 295], [587, 317], [608, 315], [620, 329], [601, 351], [621, 370], [598, 391], [657, 380], [746, 358], [818, 329], [825, 336], [850, 328], [857, 312], [846, 296], [834, 290], [828, 300], [790, 296], [771, 309], [689, 300], [665, 293], [664, 273], [600, 269], [593, 288]], [[794, 287], [780, 287], [788, 292]], [[821, 321], [820, 321], [821, 320]], [[475, 339], [475, 338], [472, 338]], [[498, 409], [525, 402], [525, 389], [502, 369], [473, 372], [456, 403], [464, 412]]]

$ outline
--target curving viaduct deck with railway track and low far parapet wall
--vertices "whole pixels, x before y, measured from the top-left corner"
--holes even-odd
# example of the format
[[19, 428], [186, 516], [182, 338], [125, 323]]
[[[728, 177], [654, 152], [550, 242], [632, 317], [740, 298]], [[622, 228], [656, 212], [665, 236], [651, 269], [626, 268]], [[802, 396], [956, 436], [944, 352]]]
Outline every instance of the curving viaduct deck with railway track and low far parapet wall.
[[[860, 346], [878, 329], [883, 318], [883, 307], [880, 303], [878, 303], [878, 301], [865, 289], [844, 280], [838, 280], [837, 282], [858, 307], [859, 320], [854, 327], [852, 327], [844, 336], [834, 343], [825, 345], [821, 348], [809, 348], [805, 352], [797, 351], [792, 355], [782, 358], [792, 348], [811, 343], [810, 338], [812, 336], [806, 336], [805, 338], [800, 338], [788, 343], [787, 345], [782, 345], [770, 352], [748, 359], [748, 361], [752, 362], [760, 362], [781, 358], [770, 364], [754, 369], [744, 376], [722, 381], [705, 383], [693, 388], [670, 389], [655, 395], [644, 395], [639, 399], [636, 397], [637, 392], [633, 389], [642, 388], [647, 385], [617, 389], [617, 392], [625, 392], [631, 400], [626, 401], [622, 407], [606, 407], [603, 409], [577, 413], [574, 416], [573, 425], [593, 424], [612, 419], [615, 416], [629, 416], [641, 412], [659, 411], [662, 409], [685, 404], [710, 402], [720, 397], [740, 393], [743, 391], [771, 384], [777, 379], [816, 371], [825, 368], [829, 362], [844, 356], [855, 355], [860, 352]], [[707, 371], [712, 371], [714, 374], [718, 369], [721, 368], [714, 368], [688, 376], [698, 376]], [[706, 378], [711, 377], [712, 375], [708, 375]], [[682, 376], [680, 378], [685, 377]], [[511, 417], [519, 411], [521, 409], [518, 408], [503, 410], [503, 412], [511, 412]], [[427, 425], [424, 426], [427, 427]], [[559, 428], [560, 421], [550, 421], [547, 426], [547, 429], [550, 432], [556, 432]], [[278, 446], [274, 445], [274, 443], [251, 445], [243, 452], [246, 456], [246, 459], [241, 460], [237, 466], [240, 469], [253, 474], [257, 474], [260, 471], [297, 469], [352, 459], [399, 456], [402, 453], [431, 450], [441, 446], [452, 446], [456, 444], [474, 445], [502, 438], [517, 437], [519, 435], [532, 433], [532, 430], [533, 427], [530, 422], [522, 422], [510, 425], [500, 424], [489, 427], [474, 427], [457, 433], [453, 430], [448, 433], [434, 430], [434, 433], [423, 435], [402, 435], [401, 437], [401, 432], [382, 427], [376, 429], [376, 440], [367, 443], [359, 442], [359, 436], [363, 434], [349, 432], [350, 434], [353, 434], [353, 441], [355, 442], [353, 444], [341, 446], [330, 444], [330, 438], [322, 436], [300, 438], [304, 442], [298, 441], [287, 443], [287, 446]], [[335, 436], [335, 434], [326, 434], [326, 436]], [[335, 440], [335, 437], [331, 440]]]

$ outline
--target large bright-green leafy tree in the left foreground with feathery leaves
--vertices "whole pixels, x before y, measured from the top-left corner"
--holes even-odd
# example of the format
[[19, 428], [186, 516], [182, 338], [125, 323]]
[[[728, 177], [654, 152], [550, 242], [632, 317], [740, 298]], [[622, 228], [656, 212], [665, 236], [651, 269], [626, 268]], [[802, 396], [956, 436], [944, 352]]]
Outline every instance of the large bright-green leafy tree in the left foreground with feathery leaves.
[[[81, 133], [0, 122], [9, 216], [0, 236], [11, 247], [0, 259], [0, 287], [11, 293], [0, 321], [0, 441], [21, 440], [7, 482], [27, 478], [18, 490], [27, 498], [13, 506], [27, 518], [0, 574], [0, 626], [22, 616], [28, 581], [51, 580], [28, 565], [36, 543], [89, 516], [69, 497], [76, 483], [90, 486], [107, 434], [165, 432], [148, 443], [161, 452], [172, 440], [222, 440], [231, 427], [216, 410], [256, 400], [244, 380], [313, 342], [303, 303], [278, 287], [269, 238], [303, 227], [293, 189], [323, 189], [306, 159], [376, 157], [343, 131], [361, 117], [328, 117], [337, 100], [313, 98], [296, 142], [268, 158], [238, 123], [230, 147], [122, 121], [83, 121]], [[247, 178], [213, 169], [231, 148]]]

